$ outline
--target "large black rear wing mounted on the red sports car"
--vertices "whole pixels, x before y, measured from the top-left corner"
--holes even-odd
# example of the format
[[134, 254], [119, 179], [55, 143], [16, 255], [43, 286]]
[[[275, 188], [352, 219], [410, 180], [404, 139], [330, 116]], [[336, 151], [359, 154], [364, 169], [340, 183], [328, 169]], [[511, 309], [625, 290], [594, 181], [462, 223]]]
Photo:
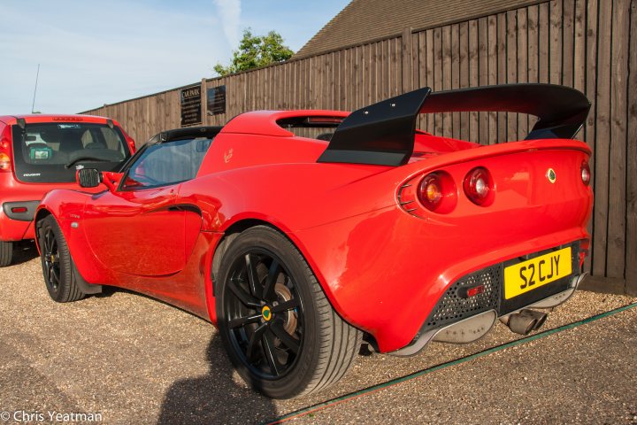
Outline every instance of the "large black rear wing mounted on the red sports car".
[[417, 89], [352, 112], [336, 128], [318, 162], [401, 166], [413, 154], [419, 113], [518, 112], [538, 117], [525, 140], [571, 139], [590, 102], [576, 89], [506, 84], [433, 93]]

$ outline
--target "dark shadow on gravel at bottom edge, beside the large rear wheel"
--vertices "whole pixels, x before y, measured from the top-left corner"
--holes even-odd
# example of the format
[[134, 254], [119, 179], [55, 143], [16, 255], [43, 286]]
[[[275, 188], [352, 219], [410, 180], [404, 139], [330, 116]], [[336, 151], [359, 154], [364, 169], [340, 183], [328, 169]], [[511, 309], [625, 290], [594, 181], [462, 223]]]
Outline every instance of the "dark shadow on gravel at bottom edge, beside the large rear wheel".
[[271, 398], [234, 374], [219, 333], [212, 336], [206, 356], [206, 375], [173, 383], [166, 392], [158, 424], [263, 423], [277, 416]]

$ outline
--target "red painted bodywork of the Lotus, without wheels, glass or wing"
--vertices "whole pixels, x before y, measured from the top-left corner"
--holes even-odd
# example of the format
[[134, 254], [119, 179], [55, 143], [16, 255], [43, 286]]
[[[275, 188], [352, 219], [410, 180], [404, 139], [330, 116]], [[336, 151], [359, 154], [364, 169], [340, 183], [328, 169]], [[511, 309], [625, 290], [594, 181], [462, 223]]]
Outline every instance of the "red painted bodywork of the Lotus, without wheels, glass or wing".
[[[458, 278], [564, 243], [587, 248], [586, 143], [480, 146], [418, 133], [404, 166], [317, 163], [327, 143], [277, 125], [314, 115], [347, 112], [242, 114], [215, 137], [193, 180], [134, 192], [54, 190], [38, 216], [56, 216], [87, 282], [149, 294], [213, 323], [219, 241], [242, 220], [269, 223], [302, 252], [334, 309], [381, 352], [410, 344]], [[492, 205], [464, 196], [464, 176], [476, 166], [493, 176]], [[433, 213], [415, 201], [418, 210], [407, 211], [400, 198], [415, 195], [404, 186], [433, 171], [456, 182], [455, 207]], [[121, 175], [108, 178], [117, 184]]]

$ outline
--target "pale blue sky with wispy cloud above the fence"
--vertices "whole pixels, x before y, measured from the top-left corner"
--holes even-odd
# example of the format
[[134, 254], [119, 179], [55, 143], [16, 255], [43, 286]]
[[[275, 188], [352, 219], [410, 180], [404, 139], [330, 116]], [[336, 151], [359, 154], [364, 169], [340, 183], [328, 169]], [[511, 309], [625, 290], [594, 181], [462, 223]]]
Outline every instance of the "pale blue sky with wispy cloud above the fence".
[[0, 115], [77, 113], [196, 83], [244, 29], [297, 51], [349, 0], [3, 0]]

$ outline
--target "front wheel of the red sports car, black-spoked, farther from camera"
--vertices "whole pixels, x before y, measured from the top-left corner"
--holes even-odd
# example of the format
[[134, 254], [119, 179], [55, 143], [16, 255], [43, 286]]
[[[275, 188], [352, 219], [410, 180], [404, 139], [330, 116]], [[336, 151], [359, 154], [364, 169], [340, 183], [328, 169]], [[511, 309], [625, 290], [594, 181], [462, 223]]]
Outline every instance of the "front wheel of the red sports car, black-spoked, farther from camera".
[[50, 298], [68, 303], [84, 298], [78, 286], [73, 259], [58, 221], [52, 215], [38, 222], [38, 243], [42, 274]]

